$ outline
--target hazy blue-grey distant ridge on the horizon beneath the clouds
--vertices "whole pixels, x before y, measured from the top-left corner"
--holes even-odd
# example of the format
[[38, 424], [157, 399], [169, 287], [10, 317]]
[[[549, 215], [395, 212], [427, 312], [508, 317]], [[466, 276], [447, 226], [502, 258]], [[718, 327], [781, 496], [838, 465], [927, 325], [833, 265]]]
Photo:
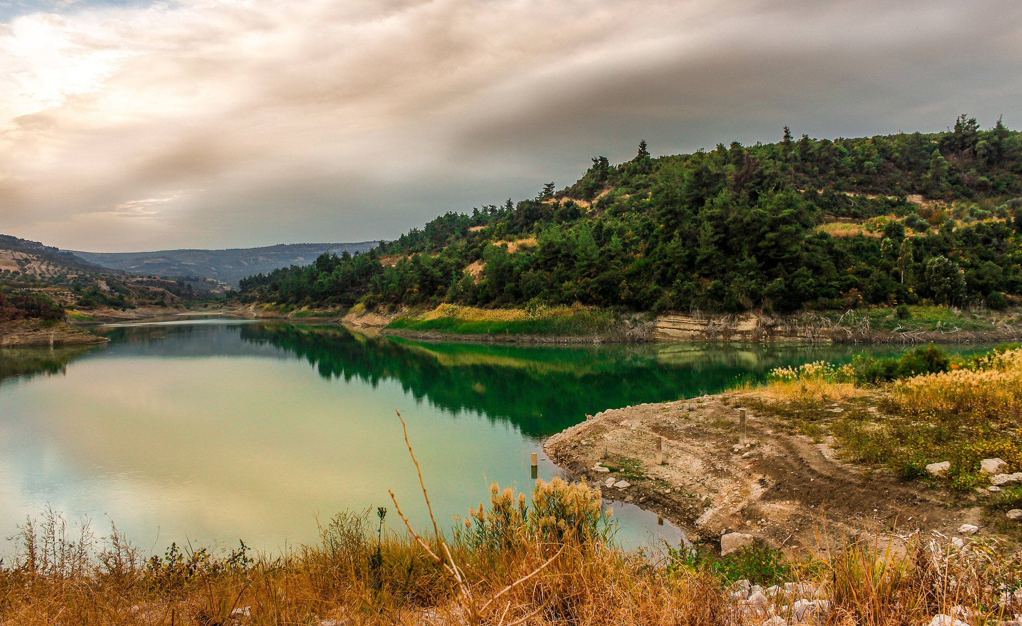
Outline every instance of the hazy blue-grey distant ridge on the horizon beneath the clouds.
[[74, 254], [97, 266], [132, 274], [155, 276], [207, 276], [236, 286], [239, 279], [277, 268], [308, 266], [324, 252], [365, 252], [378, 241], [359, 243], [291, 243], [264, 248], [227, 250], [157, 250], [155, 252], [79, 252]]

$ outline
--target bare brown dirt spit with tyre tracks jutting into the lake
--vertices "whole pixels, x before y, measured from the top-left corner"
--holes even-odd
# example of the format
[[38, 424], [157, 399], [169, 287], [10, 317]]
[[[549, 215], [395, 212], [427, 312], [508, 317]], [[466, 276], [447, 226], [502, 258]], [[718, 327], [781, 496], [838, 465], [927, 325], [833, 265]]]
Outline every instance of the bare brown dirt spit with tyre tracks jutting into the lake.
[[1007, 523], [983, 513], [992, 493], [931, 489], [853, 466], [833, 439], [784, 434], [778, 418], [751, 410], [749, 445], [739, 447], [738, 407], [752, 393], [606, 411], [553, 435], [544, 449], [571, 474], [603, 484], [605, 497], [634, 501], [708, 541], [738, 531], [775, 548], [817, 550], [894, 529], [958, 536], [965, 523], [980, 533]]

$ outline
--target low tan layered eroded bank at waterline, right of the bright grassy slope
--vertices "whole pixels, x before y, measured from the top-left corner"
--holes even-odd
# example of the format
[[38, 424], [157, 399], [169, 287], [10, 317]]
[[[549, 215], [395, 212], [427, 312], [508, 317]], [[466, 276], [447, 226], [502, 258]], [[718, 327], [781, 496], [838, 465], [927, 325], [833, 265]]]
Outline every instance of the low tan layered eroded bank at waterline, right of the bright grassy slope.
[[654, 341], [831, 341], [832, 325], [812, 315], [794, 318], [742, 314], [737, 316], [660, 316]]

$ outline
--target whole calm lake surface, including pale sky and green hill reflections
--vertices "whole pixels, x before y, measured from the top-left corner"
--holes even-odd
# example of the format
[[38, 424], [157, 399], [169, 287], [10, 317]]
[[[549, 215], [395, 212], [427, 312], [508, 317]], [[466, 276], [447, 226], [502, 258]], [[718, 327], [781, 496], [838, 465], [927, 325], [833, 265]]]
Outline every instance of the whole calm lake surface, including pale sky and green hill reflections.
[[[315, 542], [317, 518], [340, 510], [385, 505], [397, 528], [387, 489], [421, 526], [396, 410], [450, 525], [489, 500], [492, 481], [529, 490], [529, 453], [586, 414], [863, 350], [479, 345], [222, 317], [95, 332], [110, 342], [0, 350], [2, 536], [49, 505], [99, 530], [112, 521], [153, 552], [239, 538], [276, 550]], [[637, 507], [614, 509], [624, 543], [679, 538]]]

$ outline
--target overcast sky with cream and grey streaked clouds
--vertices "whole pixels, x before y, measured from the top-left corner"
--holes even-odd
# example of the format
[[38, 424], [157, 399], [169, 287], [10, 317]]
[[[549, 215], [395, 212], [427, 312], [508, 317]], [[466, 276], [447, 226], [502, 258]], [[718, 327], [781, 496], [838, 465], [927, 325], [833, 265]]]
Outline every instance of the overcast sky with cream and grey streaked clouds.
[[0, 0], [0, 233], [392, 239], [643, 139], [1020, 129], [1020, 41], [1014, 0]]

